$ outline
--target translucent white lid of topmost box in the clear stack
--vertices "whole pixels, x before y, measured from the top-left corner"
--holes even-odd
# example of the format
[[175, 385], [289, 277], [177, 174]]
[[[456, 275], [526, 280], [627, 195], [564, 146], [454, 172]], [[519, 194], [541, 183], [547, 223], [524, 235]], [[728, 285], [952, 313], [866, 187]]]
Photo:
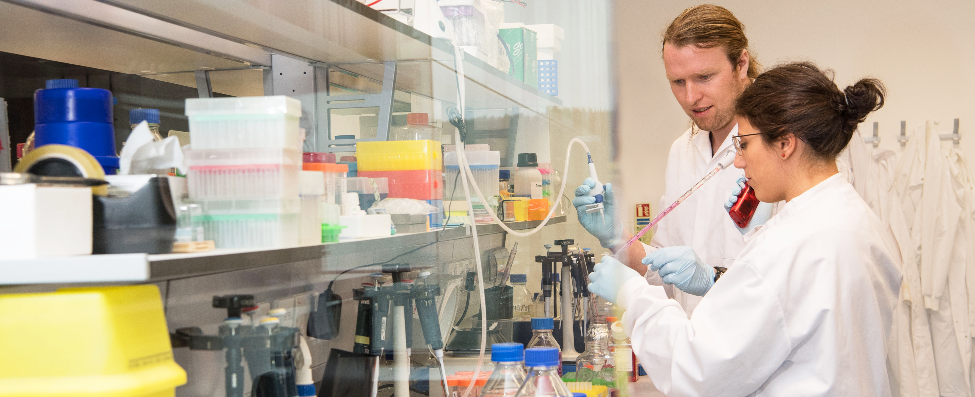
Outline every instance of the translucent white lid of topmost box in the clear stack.
[[291, 96], [186, 98], [186, 116], [290, 115], [301, 117], [301, 101]]

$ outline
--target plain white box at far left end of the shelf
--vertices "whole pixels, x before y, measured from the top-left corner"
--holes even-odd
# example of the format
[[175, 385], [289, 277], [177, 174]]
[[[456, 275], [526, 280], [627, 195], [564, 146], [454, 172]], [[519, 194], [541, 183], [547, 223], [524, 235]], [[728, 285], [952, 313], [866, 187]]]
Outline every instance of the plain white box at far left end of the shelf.
[[0, 260], [92, 253], [92, 189], [0, 186]]

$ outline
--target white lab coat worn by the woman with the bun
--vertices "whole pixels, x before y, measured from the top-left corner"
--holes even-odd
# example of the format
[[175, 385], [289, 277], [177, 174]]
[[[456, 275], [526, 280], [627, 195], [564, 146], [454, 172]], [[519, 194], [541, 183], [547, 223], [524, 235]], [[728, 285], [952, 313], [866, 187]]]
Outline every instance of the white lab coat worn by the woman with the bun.
[[842, 175], [786, 203], [692, 318], [659, 286], [620, 290], [624, 330], [677, 396], [888, 396], [897, 245]]

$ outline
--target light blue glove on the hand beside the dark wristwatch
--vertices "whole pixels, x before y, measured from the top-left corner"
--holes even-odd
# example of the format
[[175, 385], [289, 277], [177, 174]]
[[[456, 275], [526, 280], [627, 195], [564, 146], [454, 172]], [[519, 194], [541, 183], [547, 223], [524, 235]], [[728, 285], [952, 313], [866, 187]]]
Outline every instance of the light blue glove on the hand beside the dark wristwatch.
[[660, 248], [640, 262], [660, 274], [664, 283], [690, 295], [703, 297], [715, 285], [715, 268], [701, 262], [694, 249], [686, 245]]

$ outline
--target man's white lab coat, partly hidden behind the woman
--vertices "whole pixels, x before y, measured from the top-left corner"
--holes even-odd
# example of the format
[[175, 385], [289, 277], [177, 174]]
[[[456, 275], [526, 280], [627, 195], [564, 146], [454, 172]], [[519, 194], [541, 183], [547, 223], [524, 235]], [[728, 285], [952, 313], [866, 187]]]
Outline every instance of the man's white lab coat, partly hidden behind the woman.
[[[664, 197], [660, 199], [656, 212], [662, 211], [680, 198], [687, 189], [715, 169], [726, 153], [734, 151], [731, 136], [737, 134], [738, 126], [735, 126], [724, 138], [715, 156], [711, 155], [711, 134], [708, 131], [692, 133], [691, 129], [687, 129], [674, 141], [667, 158]], [[745, 240], [724, 211], [723, 204], [731, 196], [735, 182], [743, 176], [745, 171], [733, 166], [719, 171], [708, 183], [660, 220], [650, 244], [643, 244], [646, 253], [661, 247], [688, 245], [704, 263], [731, 267], [738, 252], [745, 246]], [[656, 271], [646, 271], [645, 277], [651, 285], [664, 285]], [[666, 288], [668, 294], [681, 304], [688, 315], [701, 302], [701, 297], [687, 294], [670, 285]]]

